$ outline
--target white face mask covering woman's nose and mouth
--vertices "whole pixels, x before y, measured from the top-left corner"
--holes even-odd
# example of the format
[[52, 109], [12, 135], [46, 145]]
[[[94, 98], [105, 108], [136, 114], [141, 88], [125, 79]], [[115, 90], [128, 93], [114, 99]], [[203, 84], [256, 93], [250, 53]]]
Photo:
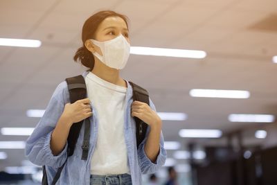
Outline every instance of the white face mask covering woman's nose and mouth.
[[90, 40], [101, 49], [102, 56], [97, 52], [93, 52], [93, 55], [101, 62], [115, 69], [123, 69], [125, 67], [129, 58], [130, 44], [123, 35], [120, 34], [118, 37], [105, 42], [99, 42], [95, 39]]

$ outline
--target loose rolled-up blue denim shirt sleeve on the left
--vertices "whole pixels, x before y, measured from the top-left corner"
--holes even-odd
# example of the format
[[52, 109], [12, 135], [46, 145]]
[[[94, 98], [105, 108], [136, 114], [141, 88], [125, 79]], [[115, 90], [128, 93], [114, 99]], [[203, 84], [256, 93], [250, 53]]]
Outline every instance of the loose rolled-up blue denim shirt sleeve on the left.
[[66, 87], [64, 82], [57, 85], [44, 115], [26, 141], [25, 156], [33, 164], [59, 168], [66, 160], [67, 141], [59, 155], [53, 155], [50, 148], [51, 134], [64, 110], [64, 89]]

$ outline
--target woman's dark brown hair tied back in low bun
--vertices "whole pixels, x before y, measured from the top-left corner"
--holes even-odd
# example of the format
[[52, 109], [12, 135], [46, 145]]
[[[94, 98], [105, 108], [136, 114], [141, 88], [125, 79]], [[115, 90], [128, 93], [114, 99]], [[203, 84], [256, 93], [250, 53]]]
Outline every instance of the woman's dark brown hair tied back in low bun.
[[88, 67], [89, 69], [87, 69], [87, 71], [91, 71], [93, 69], [94, 58], [91, 51], [84, 46], [84, 43], [87, 39], [95, 39], [95, 33], [99, 24], [107, 17], [120, 17], [125, 21], [127, 28], [129, 27], [127, 16], [111, 10], [96, 12], [84, 22], [84, 25], [82, 26], [82, 47], [76, 51], [73, 59], [75, 62], [80, 61], [83, 66]]

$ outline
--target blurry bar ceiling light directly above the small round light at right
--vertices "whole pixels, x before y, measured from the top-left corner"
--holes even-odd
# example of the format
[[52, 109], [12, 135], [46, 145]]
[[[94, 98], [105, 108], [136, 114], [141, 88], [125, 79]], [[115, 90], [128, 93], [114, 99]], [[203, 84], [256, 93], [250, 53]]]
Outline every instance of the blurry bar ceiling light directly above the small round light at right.
[[274, 115], [269, 114], [230, 114], [229, 121], [231, 122], [258, 122], [258, 123], [272, 123], [274, 122]]

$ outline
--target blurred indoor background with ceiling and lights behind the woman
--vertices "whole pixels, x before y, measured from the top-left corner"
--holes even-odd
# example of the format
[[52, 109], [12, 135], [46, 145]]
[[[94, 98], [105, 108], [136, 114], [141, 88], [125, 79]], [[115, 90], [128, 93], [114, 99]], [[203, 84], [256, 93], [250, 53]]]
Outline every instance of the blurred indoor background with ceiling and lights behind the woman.
[[82, 25], [106, 9], [129, 17], [132, 46], [182, 50], [132, 48], [121, 71], [163, 120], [168, 159], [144, 184], [276, 185], [276, 0], [1, 0], [0, 184], [40, 184], [25, 141], [55, 87], [87, 69], [73, 62]]

